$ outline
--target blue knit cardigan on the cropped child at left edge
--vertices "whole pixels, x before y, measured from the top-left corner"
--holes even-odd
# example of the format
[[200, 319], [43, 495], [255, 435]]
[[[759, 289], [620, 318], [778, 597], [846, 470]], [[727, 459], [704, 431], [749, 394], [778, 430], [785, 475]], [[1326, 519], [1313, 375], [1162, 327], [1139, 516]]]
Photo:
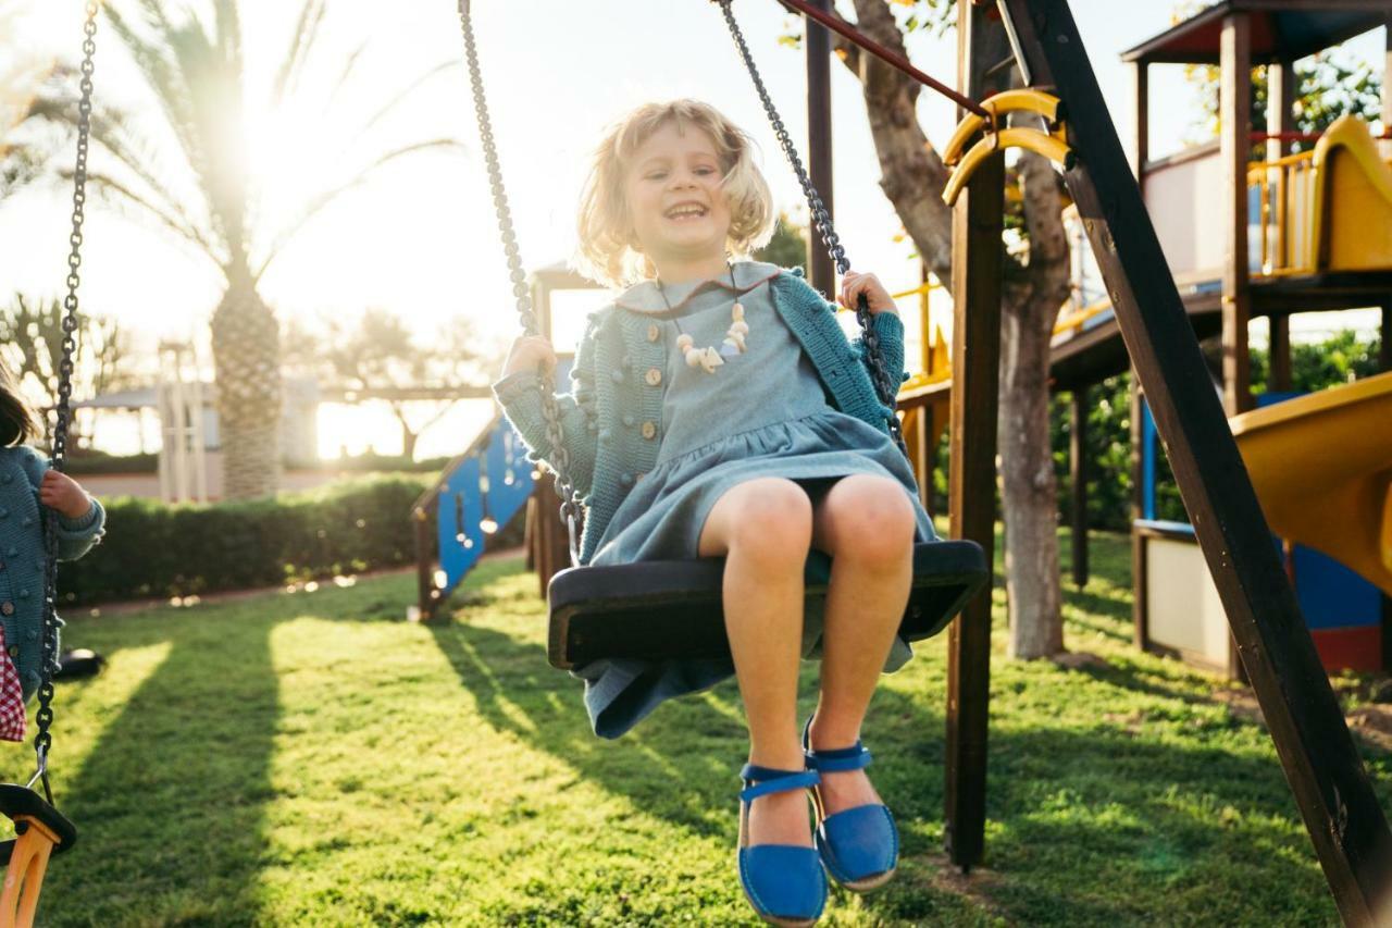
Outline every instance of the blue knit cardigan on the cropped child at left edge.
[[[49, 460], [26, 444], [0, 447], [0, 626], [25, 698], [43, 663], [43, 507], [39, 482]], [[92, 500], [82, 518], [58, 516], [58, 560], [77, 560], [102, 538], [106, 510]], [[61, 578], [60, 578], [61, 582]]]

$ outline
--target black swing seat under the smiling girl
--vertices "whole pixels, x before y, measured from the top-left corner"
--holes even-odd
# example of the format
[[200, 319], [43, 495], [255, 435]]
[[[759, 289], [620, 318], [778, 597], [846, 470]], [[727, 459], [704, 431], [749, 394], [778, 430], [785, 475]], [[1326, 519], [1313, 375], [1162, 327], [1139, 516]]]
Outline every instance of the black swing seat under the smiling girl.
[[[823, 608], [830, 567], [821, 552], [807, 559], [809, 610]], [[722, 557], [703, 557], [560, 571], [547, 596], [551, 666], [569, 670], [601, 658], [728, 658], [724, 569]], [[988, 580], [986, 555], [976, 542], [915, 545], [913, 587], [899, 635], [920, 641], [938, 634]]]

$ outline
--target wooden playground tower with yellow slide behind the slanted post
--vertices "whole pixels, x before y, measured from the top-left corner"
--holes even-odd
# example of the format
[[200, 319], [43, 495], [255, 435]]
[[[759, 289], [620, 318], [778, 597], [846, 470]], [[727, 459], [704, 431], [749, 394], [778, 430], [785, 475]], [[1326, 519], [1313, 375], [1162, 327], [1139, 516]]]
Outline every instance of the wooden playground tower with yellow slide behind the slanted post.
[[[1210, 8], [1122, 57], [1136, 68], [1136, 166], [1146, 205], [1196, 333], [1221, 336], [1215, 387], [1321, 659], [1328, 669], [1381, 670], [1392, 666], [1385, 656], [1392, 584], [1382, 566], [1392, 560], [1385, 516], [1392, 376], [1296, 399], [1289, 337], [1293, 312], [1381, 307], [1381, 366], [1392, 369], [1392, 142], [1386, 132], [1374, 139], [1350, 114], [1320, 135], [1290, 131], [1293, 61], [1382, 25], [1392, 13], [1392, 4], [1366, 6], [1360, 17], [1350, 4], [1267, 4], [1235, 21], [1240, 25], [1228, 38], [1221, 10]], [[1157, 63], [1219, 64], [1218, 142], [1160, 160], [1146, 156], [1147, 72]], [[1270, 65], [1268, 117], [1256, 131], [1244, 102], [1251, 67], [1263, 63]], [[1385, 125], [1389, 113], [1392, 92], [1385, 91]], [[1289, 153], [1293, 141], [1304, 150]], [[1250, 160], [1257, 144], [1265, 156]], [[1236, 202], [1228, 196], [1233, 190]], [[1215, 215], [1212, 203], [1231, 203], [1231, 213]], [[1108, 305], [1100, 307], [1100, 318], [1109, 315]], [[1272, 357], [1261, 410], [1247, 386], [1247, 320], [1257, 315], [1270, 319]], [[1104, 351], [1091, 347], [1100, 343], [1094, 336], [1080, 344], [1075, 364], [1089, 350]], [[1193, 527], [1155, 518], [1155, 432], [1143, 392], [1132, 412], [1136, 641], [1240, 679], [1242, 660]]]

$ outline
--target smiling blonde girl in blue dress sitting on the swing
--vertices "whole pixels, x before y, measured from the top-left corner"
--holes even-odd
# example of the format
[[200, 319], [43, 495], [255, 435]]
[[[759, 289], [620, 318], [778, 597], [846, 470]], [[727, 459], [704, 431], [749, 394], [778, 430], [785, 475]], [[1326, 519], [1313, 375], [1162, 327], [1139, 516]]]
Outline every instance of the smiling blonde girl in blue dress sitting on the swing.
[[[866, 776], [860, 725], [896, 635], [915, 539], [933, 539], [885, 425], [862, 346], [799, 272], [731, 255], [767, 240], [771, 195], [750, 139], [707, 105], [633, 111], [601, 142], [579, 219], [585, 269], [626, 287], [589, 318], [558, 396], [589, 564], [725, 557], [729, 660], [604, 660], [580, 667], [594, 732], [618, 737], [665, 698], [738, 677], [749, 722], [739, 876], [774, 924], [816, 921], [825, 871], [852, 890], [894, 874], [898, 835]], [[873, 274], [889, 371], [903, 326]], [[535, 454], [551, 447], [537, 390], [551, 346], [522, 337], [496, 385]], [[895, 379], [898, 382], [898, 378]], [[832, 557], [824, 616], [803, 617], [809, 549]], [[817, 708], [796, 719], [798, 665], [821, 656]], [[805, 790], [812, 790], [816, 850]]]

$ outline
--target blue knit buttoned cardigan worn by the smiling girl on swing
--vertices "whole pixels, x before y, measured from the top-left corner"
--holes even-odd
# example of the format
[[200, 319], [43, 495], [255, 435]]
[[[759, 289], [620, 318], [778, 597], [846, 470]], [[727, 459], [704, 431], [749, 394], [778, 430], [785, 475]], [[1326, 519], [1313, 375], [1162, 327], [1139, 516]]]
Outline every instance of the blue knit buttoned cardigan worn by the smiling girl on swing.
[[[876, 396], [862, 339], [848, 341], [837, 308], [821, 298], [802, 270], [768, 281], [774, 307], [812, 359], [837, 410], [888, 433], [889, 410]], [[653, 470], [660, 442], [644, 439], [639, 422], [663, 421], [664, 339], [649, 337], [651, 319], [612, 304], [589, 316], [571, 368], [574, 389], [557, 396], [569, 477], [585, 503], [580, 563], [589, 563], [604, 528], [633, 482]], [[903, 323], [892, 312], [874, 318], [884, 364], [903, 372]], [[650, 371], [658, 372], [649, 375]], [[657, 380], [656, 383], [651, 380]], [[551, 460], [535, 372], [522, 371], [493, 385], [512, 426], [532, 449], [532, 460]]]

